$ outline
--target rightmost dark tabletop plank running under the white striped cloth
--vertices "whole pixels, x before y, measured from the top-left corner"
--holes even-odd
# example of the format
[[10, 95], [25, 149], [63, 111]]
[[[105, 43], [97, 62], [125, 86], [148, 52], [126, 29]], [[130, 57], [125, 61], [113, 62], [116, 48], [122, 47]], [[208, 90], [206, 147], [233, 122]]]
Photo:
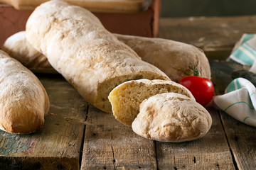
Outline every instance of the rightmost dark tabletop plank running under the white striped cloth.
[[[226, 63], [230, 65], [230, 63]], [[233, 67], [241, 67], [232, 63]], [[225, 67], [225, 65], [223, 65]], [[225, 69], [224, 69], [225, 71]], [[223, 69], [214, 70], [215, 82], [218, 85], [217, 94], [224, 93], [226, 86], [232, 81], [230, 72], [223, 72]], [[221, 111], [221, 120], [227, 135], [230, 150], [235, 159], [235, 166], [238, 169], [256, 169], [256, 129], [250, 125], [240, 123], [230, 115]]]

